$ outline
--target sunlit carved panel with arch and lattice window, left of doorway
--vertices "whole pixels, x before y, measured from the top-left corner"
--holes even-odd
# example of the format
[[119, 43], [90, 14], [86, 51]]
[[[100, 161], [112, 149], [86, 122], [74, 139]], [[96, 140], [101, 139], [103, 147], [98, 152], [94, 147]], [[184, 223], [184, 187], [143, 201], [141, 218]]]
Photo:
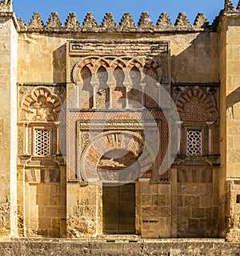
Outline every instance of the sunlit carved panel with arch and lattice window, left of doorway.
[[[48, 170], [55, 166], [59, 172], [57, 162], [64, 165], [58, 146], [58, 116], [66, 86], [19, 85], [18, 91], [18, 166], [25, 166], [26, 177], [34, 168], [39, 170], [36, 174], [44, 172], [45, 182], [57, 181], [58, 178], [50, 178], [52, 171]], [[32, 177], [26, 181], [34, 182]]]

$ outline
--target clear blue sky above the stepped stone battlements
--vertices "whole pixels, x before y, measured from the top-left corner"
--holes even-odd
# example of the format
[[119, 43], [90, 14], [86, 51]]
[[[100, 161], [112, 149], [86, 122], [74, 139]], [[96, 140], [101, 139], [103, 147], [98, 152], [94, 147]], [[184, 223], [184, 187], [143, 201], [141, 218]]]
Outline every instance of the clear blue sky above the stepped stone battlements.
[[[233, 3], [234, 6], [237, 6], [238, 0], [233, 0]], [[223, 6], [224, 0], [14, 0], [15, 14], [18, 18], [23, 18], [26, 24], [30, 21], [34, 11], [42, 15], [45, 24], [53, 11], [58, 12], [62, 23], [66, 21], [70, 12], [75, 12], [81, 24], [87, 12], [94, 13], [98, 24], [102, 22], [106, 12], [113, 13], [117, 24], [120, 22], [122, 14], [127, 12], [130, 12], [134, 22], [138, 23], [142, 11], [150, 13], [154, 24], [164, 11], [169, 14], [173, 24], [178, 13], [185, 12], [190, 23], [193, 24], [198, 12], [203, 12], [211, 24]]]

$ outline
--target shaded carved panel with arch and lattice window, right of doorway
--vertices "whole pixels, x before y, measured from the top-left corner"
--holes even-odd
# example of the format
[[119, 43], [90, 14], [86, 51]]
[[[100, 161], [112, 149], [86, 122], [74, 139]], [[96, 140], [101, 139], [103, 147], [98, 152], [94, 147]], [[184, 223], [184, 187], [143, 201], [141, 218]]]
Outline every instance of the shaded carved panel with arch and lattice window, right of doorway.
[[173, 98], [182, 121], [179, 154], [187, 155], [187, 165], [194, 164], [191, 157], [204, 165], [217, 164], [219, 156], [211, 156], [219, 154], [218, 84], [175, 84]]

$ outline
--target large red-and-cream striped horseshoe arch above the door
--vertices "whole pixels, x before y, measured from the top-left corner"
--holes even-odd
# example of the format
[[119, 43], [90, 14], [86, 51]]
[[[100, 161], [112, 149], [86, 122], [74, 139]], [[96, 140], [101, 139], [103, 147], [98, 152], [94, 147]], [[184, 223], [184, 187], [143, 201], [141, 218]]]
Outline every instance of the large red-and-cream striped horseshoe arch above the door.
[[[114, 150], [126, 150], [126, 152], [130, 152], [130, 154], [138, 159], [140, 170], [136, 174], [136, 177], [134, 177], [134, 174], [132, 174], [131, 177], [134, 177], [134, 179], [137, 179], [142, 174], [146, 173], [146, 171], [150, 170], [153, 165], [150, 147], [146, 146], [143, 139], [138, 134], [130, 131], [107, 131], [96, 136], [79, 156], [79, 162], [81, 163], [79, 177], [82, 177], [82, 179], [85, 181], [91, 179], [102, 181], [100, 179], [102, 174], [98, 174], [99, 162], [102, 159], [102, 156], [108, 154], [110, 151], [114, 152]], [[114, 160], [114, 157], [110, 159], [109, 163], [113, 166], [113, 168], [119, 167], [122, 169], [122, 171], [124, 171], [125, 166], [118, 166], [118, 162]], [[104, 170], [103, 166], [101, 167], [101, 171]], [[126, 171], [129, 171], [129, 169]]]

